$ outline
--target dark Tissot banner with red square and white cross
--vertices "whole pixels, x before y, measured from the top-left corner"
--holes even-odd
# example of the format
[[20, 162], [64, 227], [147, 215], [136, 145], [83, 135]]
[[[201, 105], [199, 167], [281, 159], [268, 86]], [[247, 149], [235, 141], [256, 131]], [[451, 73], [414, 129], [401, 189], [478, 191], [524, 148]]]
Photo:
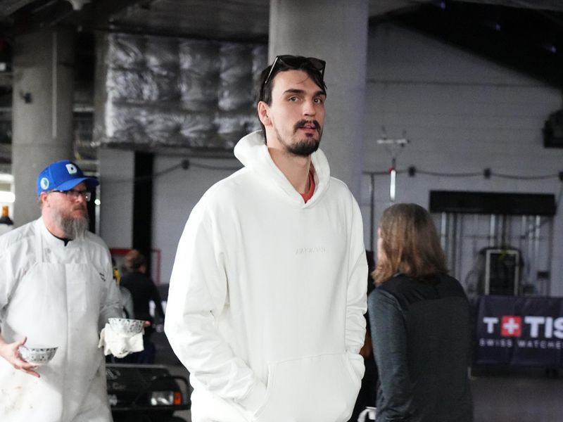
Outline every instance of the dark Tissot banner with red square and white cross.
[[476, 364], [563, 364], [563, 298], [481, 296], [475, 322]]

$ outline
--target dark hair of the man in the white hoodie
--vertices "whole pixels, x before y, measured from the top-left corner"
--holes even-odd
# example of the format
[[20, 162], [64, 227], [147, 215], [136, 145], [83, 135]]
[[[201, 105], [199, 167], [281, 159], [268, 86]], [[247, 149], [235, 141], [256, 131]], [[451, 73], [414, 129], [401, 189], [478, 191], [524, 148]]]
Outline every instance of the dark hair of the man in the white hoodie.
[[[327, 94], [327, 84], [324, 83], [323, 60], [303, 56], [277, 56], [274, 63], [268, 65], [260, 73], [258, 87], [256, 87], [256, 92], [258, 93], [256, 106], [258, 106], [260, 101], [264, 101], [268, 106], [272, 105], [272, 87], [274, 78], [279, 72], [285, 72], [286, 70], [303, 70], [303, 72], [305, 72], [308, 77], [317, 84], [323, 94]], [[262, 127], [265, 139], [266, 129], [262, 122], [260, 122], [260, 127]]]

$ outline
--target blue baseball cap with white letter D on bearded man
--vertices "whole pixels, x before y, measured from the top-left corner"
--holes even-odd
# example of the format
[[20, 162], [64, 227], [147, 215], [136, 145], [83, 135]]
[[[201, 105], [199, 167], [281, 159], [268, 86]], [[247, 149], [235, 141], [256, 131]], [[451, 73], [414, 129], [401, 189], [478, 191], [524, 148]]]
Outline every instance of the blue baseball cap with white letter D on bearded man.
[[75, 162], [70, 160], [52, 162], [37, 176], [37, 196], [53, 189], [68, 191], [82, 181], [88, 188], [94, 188], [100, 184], [98, 179], [84, 176]]

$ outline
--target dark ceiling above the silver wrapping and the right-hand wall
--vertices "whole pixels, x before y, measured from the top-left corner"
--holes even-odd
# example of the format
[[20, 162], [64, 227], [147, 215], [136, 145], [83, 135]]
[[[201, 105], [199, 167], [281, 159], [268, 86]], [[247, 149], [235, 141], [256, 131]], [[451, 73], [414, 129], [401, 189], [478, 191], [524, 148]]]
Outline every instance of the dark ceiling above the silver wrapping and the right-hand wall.
[[[84, 49], [96, 30], [266, 42], [269, 8], [270, 0], [0, 0], [0, 62], [14, 34], [37, 25], [79, 28]], [[369, 18], [563, 87], [563, 0], [369, 0]]]

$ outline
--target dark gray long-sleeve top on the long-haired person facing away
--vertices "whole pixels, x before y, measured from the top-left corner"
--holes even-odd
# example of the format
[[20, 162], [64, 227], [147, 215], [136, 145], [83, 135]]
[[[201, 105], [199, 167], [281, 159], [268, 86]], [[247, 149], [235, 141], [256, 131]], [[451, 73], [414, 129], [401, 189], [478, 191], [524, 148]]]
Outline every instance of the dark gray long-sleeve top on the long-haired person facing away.
[[397, 274], [369, 295], [368, 309], [376, 421], [473, 421], [471, 311], [460, 283], [445, 274], [424, 282]]

